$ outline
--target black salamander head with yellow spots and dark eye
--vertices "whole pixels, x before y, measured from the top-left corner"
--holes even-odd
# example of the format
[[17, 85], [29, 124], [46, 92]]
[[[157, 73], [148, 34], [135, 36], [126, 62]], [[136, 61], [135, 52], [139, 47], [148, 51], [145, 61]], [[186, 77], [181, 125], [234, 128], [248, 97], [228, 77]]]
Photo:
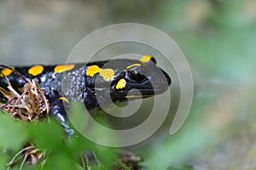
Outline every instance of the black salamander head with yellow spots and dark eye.
[[87, 66], [87, 88], [93, 92], [106, 92], [108, 96], [110, 93], [113, 101], [161, 94], [171, 84], [171, 78], [149, 55], [139, 60], [113, 59], [102, 62], [102, 65]]

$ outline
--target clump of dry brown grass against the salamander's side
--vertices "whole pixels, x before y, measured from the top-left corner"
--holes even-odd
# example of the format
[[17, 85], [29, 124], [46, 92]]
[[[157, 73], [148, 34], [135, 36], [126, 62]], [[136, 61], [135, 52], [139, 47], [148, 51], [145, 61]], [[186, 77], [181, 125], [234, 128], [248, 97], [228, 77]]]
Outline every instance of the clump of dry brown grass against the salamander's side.
[[9, 91], [0, 87], [0, 93], [8, 99], [7, 103], [0, 104], [3, 111], [25, 122], [37, 122], [40, 117], [49, 114], [49, 103], [44, 95], [44, 88], [39, 87], [38, 81], [27, 81], [18, 92], [12, 87], [9, 79], [5, 79]]

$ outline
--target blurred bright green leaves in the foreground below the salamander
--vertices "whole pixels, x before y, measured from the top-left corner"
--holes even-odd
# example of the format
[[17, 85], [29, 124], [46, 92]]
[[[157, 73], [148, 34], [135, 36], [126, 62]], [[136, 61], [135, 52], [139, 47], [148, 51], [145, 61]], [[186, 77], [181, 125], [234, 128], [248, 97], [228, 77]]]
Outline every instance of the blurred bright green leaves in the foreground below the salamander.
[[[7, 169], [8, 162], [28, 141], [32, 142], [36, 149], [45, 150], [45, 154], [35, 166], [25, 164], [22, 169], [84, 169], [81, 161], [85, 150], [95, 153], [97, 162], [86, 162], [92, 169], [111, 169], [117, 159], [117, 152], [113, 148], [94, 144], [79, 133], [67, 136], [55, 119], [50, 119], [50, 122], [26, 124], [1, 113], [0, 124], [1, 129], [5, 129], [0, 133], [0, 169]], [[16, 162], [14, 169], [20, 168], [20, 165], [21, 162]]]

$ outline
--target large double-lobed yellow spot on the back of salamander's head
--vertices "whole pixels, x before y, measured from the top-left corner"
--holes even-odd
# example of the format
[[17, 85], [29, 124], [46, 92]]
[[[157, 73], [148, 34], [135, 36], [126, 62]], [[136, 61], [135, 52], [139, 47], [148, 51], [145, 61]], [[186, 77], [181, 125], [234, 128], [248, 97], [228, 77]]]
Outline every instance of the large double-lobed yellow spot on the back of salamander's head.
[[86, 70], [86, 76], [93, 77], [98, 72], [105, 81], [113, 80], [114, 71], [112, 69], [101, 69], [98, 65], [90, 65]]

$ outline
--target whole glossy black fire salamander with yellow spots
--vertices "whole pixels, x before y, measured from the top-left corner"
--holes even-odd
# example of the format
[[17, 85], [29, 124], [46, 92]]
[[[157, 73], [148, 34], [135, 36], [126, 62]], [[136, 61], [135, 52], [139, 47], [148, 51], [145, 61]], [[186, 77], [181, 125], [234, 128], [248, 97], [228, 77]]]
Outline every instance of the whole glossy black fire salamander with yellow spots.
[[[171, 84], [171, 78], [156, 66], [154, 57], [144, 55], [141, 59], [113, 59], [88, 64], [70, 65], [32, 65], [15, 67], [15, 71], [28, 79], [37, 79], [49, 101], [50, 112], [73, 133], [65, 121], [64, 102], [83, 102], [91, 111], [99, 108], [99, 103], [108, 105], [112, 101], [128, 98], [150, 97], [161, 94]], [[12, 87], [18, 89], [25, 80], [8, 68], [0, 70], [0, 87], [7, 88], [6, 76]], [[154, 84], [154, 85], [153, 85]], [[137, 90], [134, 90], [137, 89]], [[140, 92], [138, 94], [137, 92]], [[102, 96], [96, 99], [96, 92]], [[128, 93], [129, 92], [129, 93]], [[108, 99], [106, 96], [110, 96]], [[0, 100], [7, 101], [2, 94]]]

